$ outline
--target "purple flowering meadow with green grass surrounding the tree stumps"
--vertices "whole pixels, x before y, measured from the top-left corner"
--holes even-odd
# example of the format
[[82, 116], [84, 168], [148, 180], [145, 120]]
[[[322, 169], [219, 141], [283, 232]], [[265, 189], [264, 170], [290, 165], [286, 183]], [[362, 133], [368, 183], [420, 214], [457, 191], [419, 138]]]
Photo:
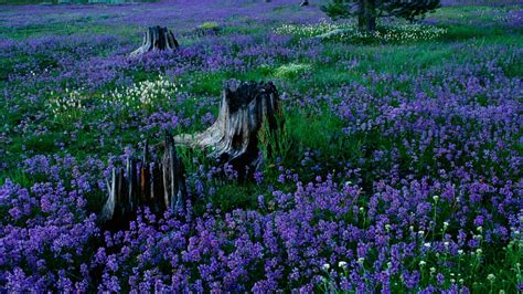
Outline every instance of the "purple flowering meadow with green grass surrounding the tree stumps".
[[[522, 292], [523, 7], [478, 2], [363, 36], [313, 0], [0, 6], [0, 293]], [[180, 49], [129, 57], [157, 24]], [[254, 178], [179, 147], [189, 212], [104, 230], [111, 169], [231, 78], [282, 101]]]

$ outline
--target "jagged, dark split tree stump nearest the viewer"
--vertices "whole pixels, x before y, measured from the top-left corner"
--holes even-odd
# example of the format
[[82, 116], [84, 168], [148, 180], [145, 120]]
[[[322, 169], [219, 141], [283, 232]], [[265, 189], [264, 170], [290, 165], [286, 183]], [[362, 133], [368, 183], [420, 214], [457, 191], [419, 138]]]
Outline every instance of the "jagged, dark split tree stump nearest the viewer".
[[185, 209], [188, 192], [184, 167], [177, 155], [171, 135], [166, 135], [164, 153], [161, 160], [150, 162], [148, 145], [143, 157], [129, 157], [125, 171], [114, 168], [107, 182], [109, 197], [102, 209], [99, 219], [106, 227], [121, 229], [136, 218], [139, 208], [149, 207], [153, 213], [168, 208], [175, 212]]

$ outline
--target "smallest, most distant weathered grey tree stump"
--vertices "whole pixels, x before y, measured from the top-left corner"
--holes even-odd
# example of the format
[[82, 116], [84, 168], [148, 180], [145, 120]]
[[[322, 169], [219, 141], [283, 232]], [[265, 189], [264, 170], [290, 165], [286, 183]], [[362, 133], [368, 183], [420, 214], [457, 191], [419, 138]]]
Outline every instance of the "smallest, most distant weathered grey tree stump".
[[130, 55], [138, 56], [150, 51], [173, 51], [179, 46], [174, 34], [170, 30], [156, 25], [150, 27], [147, 32], [143, 33], [141, 46], [135, 50]]

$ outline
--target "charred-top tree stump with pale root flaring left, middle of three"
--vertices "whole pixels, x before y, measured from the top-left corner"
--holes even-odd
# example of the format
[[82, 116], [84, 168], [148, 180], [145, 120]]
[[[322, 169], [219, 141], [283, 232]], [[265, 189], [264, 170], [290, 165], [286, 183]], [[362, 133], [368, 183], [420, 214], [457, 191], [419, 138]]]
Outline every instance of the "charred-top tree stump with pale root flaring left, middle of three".
[[269, 130], [278, 127], [279, 107], [278, 91], [271, 82], [228, 81], [216, 122], [202, 133], [177, 136], [174, 141], [193, 148], [211, 148], [211, 158], [232, 165], [239, 177], [244, 177], [246, 170], [257, 164], [260, 128], [265, 123]]

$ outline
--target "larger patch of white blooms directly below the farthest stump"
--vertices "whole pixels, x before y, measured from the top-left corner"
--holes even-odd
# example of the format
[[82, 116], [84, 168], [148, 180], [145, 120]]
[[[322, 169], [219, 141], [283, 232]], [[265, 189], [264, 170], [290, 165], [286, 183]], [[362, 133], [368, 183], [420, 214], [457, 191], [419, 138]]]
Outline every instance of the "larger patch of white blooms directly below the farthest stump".
[[146, 108], [179, 93], [181, 85], [160, 76], [156, 81], [143, 81], [131, 87], [117, 88], [103, 95], [102, 99], [108, 105], [122, 105], [127, 108]]

